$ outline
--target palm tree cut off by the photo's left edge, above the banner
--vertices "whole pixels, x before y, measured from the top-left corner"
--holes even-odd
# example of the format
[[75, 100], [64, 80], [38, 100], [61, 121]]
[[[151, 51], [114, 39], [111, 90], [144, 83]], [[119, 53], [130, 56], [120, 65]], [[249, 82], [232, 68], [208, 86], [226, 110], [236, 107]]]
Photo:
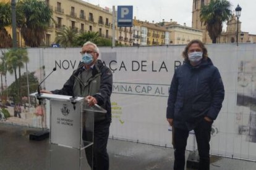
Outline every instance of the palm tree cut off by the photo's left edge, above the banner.
[[0, 2], [0, 48], [12, 47], [11, 35], [7, 33], [5, 26], [11, 25], [11, 5]]

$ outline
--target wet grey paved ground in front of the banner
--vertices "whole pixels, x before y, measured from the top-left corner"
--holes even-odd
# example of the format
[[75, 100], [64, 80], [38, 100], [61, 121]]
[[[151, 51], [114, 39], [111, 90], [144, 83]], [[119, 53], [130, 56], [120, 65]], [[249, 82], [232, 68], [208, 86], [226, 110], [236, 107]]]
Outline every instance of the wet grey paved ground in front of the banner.
[[[29, 134], [35, 131], [38, 129], [0, 123], [1, 170], [48, 169], [49, 140], [29, 140]], [[173, 169], [172, 148], [109, 139], [108, 153], [111, 170]], [[211, 157], [211, 170], [254, 170], [255, 167], [255, 162]]]

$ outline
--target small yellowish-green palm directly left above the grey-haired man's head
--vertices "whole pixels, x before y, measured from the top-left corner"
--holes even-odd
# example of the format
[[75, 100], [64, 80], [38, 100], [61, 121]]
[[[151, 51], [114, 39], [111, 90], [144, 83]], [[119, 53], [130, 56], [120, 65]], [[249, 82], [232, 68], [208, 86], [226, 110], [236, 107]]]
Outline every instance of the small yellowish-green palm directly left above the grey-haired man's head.
[[75, 39], [77, 39], [77, 28], [71, 28], [62, 26], [62, 28], [56, 32], [56, 43], [61, 44], [64, 47], [74, 47]]

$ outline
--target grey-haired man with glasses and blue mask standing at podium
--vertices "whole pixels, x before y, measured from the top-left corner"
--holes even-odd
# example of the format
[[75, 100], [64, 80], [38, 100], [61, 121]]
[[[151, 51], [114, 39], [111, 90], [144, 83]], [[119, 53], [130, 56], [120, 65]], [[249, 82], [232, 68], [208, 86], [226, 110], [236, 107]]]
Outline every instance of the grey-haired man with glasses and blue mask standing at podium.
[[86, 149], [87, 161], [93, 169], [108, 170], [109, 156], [106, 150], [111, 123], [111, 103], [113, 76], [111, 70], [98, 60], [100, 51], [96, 44], [88, 41], [83, 44], [82, 63], [66, 81], [62, 89], [55, 91], [41, 91], [50, 94], [72, 95], [85, 97], [90, 107], [95, 104], [105, 108], [105, 115], [95, 116], [93, 153], [92, 149]]

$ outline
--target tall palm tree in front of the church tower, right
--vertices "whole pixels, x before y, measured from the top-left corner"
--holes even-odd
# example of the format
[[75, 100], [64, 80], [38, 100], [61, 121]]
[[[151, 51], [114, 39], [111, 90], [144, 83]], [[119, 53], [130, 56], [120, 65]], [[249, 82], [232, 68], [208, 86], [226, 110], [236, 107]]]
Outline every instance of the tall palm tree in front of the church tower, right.
[[213, 43], [220, 36], [223, 22], [232, 17], [231, 4], [227, 0], [211, 0], [208, 5], [202, 6], [201, 22], [206, 25], [208, 34]]

